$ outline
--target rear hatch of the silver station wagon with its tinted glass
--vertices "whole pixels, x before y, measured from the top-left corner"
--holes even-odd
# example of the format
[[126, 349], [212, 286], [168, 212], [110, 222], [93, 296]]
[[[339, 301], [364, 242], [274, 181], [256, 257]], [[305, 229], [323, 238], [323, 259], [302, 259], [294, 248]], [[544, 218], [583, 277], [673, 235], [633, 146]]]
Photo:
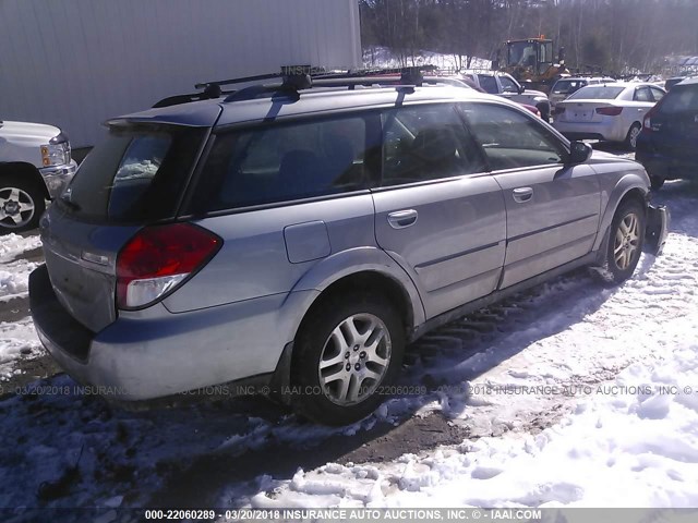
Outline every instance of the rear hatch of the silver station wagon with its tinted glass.
[[93, 332], [117, 318], [120, 250], [144, 224], [174, 219], [205, 129], [115, 122], [41, 220], [58, 300]]

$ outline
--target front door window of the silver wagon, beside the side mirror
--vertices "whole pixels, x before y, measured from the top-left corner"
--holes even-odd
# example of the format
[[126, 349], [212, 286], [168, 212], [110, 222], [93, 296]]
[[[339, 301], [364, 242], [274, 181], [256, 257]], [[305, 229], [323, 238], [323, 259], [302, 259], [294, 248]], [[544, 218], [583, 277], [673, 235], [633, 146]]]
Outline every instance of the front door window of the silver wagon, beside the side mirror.
[[461, 104], [468, 127], [483, 148], [493, 171], [563, 163], [563, 142], [533, 117], [505, 106]]

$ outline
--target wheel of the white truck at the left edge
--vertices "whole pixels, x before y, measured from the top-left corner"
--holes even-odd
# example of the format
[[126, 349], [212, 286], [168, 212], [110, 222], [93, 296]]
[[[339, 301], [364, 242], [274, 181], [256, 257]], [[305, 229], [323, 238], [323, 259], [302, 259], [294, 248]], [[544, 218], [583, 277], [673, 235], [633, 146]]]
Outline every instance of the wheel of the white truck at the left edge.
[[0, 234], [36, 229], [46, 210], [44, 191], [15, 174], [0, 178]]

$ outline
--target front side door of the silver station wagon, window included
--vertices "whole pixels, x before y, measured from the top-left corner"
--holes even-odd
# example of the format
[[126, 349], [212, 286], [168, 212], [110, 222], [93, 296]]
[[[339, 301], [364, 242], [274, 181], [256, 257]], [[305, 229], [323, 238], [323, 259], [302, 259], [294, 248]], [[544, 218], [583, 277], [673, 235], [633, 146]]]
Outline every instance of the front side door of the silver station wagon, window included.
[[464, 104], [506, 205], [507, 248], [501, 288], [591, 251], [600, 190], [587, 165], [565, 166], [565, 144], [535, 118], [512, 107]]

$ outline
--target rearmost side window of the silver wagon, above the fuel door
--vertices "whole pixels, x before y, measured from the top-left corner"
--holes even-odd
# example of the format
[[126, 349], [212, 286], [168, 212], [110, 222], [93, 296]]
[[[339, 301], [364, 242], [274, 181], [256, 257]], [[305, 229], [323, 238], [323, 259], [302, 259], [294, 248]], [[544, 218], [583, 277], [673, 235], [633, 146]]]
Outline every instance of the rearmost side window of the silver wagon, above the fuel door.
[[378, 165], [377, 113], [230, 132], [216, 138], [193, 210], [233, 209], [362, 190]]

